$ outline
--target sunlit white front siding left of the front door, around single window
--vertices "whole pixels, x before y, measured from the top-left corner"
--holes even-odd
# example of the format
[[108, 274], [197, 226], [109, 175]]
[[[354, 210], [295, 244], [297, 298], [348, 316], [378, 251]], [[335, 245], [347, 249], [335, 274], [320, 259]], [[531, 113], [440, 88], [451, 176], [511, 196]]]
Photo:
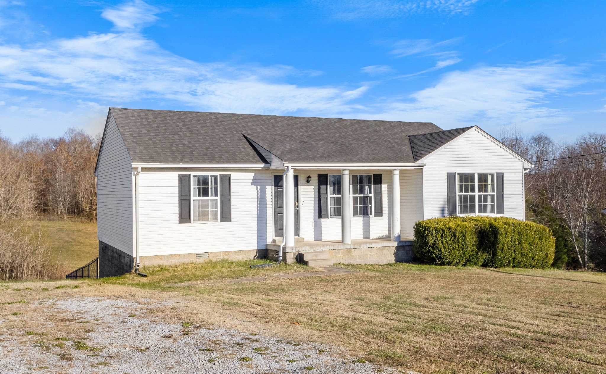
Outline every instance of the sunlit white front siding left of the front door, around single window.
[[141, 256], [264, 249], [273, 233], [270, 170], [188, 170], [231, 175], [231, 222], [179, 224], [179, 170], [139, 175]]

